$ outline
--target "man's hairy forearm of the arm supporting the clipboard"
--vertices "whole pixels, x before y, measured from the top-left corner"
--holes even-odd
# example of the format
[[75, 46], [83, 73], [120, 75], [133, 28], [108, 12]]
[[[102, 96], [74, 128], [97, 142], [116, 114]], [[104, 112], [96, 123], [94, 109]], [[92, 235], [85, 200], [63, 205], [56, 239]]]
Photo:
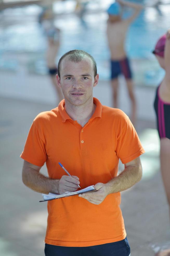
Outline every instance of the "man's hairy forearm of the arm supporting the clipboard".
[[142, 166], [127, 166], [117, 177], [106, 183], [108, 194], [124, 191], [142, 178]]

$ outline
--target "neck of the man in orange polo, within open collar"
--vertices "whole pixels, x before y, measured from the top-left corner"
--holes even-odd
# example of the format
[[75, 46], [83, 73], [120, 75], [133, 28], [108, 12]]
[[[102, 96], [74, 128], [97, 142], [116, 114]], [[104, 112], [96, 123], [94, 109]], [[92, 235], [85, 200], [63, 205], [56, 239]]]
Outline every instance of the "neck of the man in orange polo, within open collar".
[[64, 109], [71, 119], [76, 120], [83, 127], [95, 112], [96, 105], [93, 103], [93, 98], [90, 102], [87, 101], [85, 104], [79, 106], [74, 106], [65, 100]]

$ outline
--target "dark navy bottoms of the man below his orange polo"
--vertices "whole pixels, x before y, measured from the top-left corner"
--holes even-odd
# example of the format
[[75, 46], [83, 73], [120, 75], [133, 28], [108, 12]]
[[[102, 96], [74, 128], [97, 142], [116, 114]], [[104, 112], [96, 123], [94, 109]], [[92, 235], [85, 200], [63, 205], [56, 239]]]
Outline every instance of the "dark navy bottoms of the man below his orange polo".
[[45, 256], [130, 256], [127, 238], [124, 240], [87, 247], [65, 247], [45, 244]]

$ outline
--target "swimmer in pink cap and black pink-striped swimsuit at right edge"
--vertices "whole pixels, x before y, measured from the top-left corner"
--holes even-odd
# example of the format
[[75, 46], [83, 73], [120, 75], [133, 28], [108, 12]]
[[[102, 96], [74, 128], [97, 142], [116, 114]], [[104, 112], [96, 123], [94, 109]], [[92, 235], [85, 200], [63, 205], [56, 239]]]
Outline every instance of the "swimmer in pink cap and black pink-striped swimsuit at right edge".
[[[170, 209], [170, 29], [158, 40], [153, 53], [165, 69], [165, 77], [156, 90], [154, 109], [160, 137], [161, 174]], [[170, 256], [170, 248], [156, 256]]]

